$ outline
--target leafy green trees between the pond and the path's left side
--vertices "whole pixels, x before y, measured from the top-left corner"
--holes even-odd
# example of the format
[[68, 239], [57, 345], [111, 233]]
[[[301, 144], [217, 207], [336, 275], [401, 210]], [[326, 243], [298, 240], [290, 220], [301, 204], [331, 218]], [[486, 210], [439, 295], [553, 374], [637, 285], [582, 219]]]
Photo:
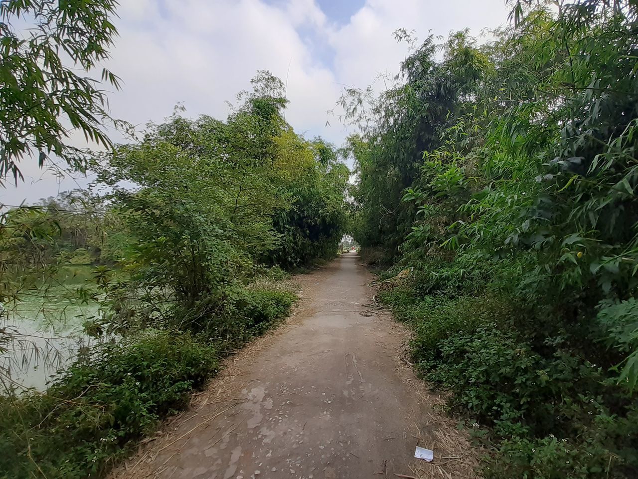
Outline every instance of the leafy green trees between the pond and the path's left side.
[[212, 334], [227, 325], [211, 318], [262, 264], [290, 269], [336, 254], [345, 165], [286, 125], [283, 84], [270, 73], [239, 98], [226, 121], [176, 112], [100, 162], [98, 185], [119, 221], [103, 258], [126, 275], [96, 270], [105, 300], [93, 330], [168, 322]]

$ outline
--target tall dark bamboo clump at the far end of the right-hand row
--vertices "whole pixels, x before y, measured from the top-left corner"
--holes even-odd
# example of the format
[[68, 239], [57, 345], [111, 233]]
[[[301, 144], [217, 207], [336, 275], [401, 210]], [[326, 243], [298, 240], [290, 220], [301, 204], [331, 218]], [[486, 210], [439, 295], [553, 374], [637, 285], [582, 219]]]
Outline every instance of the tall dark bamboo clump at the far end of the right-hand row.
[[[362, 125], [364, 137], [353, 136], [348, 151], [356, 160], [359, 184], [353, 188], [357, 205], [355, 239], [364, 248], [382, 248], [387, 259], [396, 257], [410, 232], [415, 214], [412, 202], [402, 201], [405, 188], [419, 178], [422, 152], [441, 144], [440, 132], [452, 125], [460, 96], [470, 93], [480, 74], [489, 68], [486, 56], [473, 48], [466, 32], [446, 45], [443, 62], [434, 61], [433, 36], [420, 45], [410, 36], [412, 54], [402, 63], [394, 89], [378, 100], [350, 89], [341, 98], [345, 116]], [[369, 109], [362, 105], [370, 103]], [[363, 110], [362, 110], [363, 109]], [[376, 122], [372, 119], [376, 118]]]

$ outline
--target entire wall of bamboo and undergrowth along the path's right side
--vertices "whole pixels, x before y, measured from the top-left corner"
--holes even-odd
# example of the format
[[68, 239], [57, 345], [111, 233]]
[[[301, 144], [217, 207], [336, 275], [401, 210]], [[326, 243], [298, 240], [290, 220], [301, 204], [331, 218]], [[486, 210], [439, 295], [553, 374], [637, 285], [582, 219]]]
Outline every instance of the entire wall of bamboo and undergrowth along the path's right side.
[[382, 298], [420, 372], [491, 428], [486, 476], [633, 477], [638, 11], [512, 18], [440, 61], [413, 48], [404, 84], [369, 100], [355, 239], [410, 271]]

